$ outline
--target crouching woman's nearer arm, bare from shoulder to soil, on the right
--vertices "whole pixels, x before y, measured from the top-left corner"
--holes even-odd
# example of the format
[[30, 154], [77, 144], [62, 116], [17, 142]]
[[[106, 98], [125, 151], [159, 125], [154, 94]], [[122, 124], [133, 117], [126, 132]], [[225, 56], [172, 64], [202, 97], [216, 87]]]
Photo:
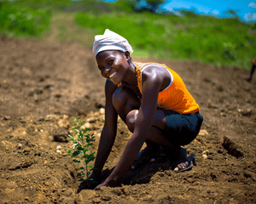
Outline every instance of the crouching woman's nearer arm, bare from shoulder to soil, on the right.
[[142, 104], [137, 114], [134, 132], [126, 144], [119, 163], [104, 183], [96, 187], [96, 190], [99, 190], [102, 186], [115, 186], [135, 161], [153, 123], [162, 81], [163, 79], [154, 72], [154, 69], [147, 68], [147, 71], [143, 73]]

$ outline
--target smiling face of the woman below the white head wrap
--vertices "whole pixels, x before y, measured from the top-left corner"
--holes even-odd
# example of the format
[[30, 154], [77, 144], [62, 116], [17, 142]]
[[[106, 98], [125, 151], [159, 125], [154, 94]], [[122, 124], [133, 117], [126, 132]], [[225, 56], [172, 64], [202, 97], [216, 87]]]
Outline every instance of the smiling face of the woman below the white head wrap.
[[114, 84], [119, 84], [129, 69], [128, 58], [129, 54], [116, 50], [106, 50], [96, 55], [96, 62], [102, 77], [107, 78]]

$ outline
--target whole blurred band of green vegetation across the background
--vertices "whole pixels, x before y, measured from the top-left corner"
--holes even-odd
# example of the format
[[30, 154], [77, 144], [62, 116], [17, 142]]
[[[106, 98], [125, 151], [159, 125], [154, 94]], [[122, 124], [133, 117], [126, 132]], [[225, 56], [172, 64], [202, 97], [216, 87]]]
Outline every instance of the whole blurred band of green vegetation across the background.
[[[192, 60], [212, 65], [250, 68], [255, 56], [256, 25], [245, 23], [236, 11], [230, 18], [195, 14], [191, 10], [170, 12], [160, 9], [165, 0], [0, 0], [0, 33], [12, 37], [44, 37], [53, 19], [61, 18], [62, 34], [68, 40], [79, 35], [70, 31], [73, 24], [87, 31], [92, 45], [94, 36], [110, 29], [125, 37], [135, 50], [134, 56]], [[70, 22], [67, 18], [73, 16]], [[60, 17], [61, 16], [61, 17]], [[54, 25], [56, 24], [56, 25]], [[65, 35], [68, 32], [68, 35]], [[67, 42], [67, 39], [62, 39]]]

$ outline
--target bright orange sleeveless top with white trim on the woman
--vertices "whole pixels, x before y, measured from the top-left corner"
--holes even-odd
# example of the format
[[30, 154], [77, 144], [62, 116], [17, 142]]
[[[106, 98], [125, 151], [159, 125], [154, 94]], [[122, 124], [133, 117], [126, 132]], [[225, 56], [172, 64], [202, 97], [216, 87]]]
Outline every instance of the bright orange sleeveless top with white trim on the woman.
[[157, 63], [140, 63], [135, 62], [137, 71], [137, 86], [142, 91], [142, 71], [147, 65], [157, 65], [166, 67], [170, 71], [171, 83], [169, 87], [160, 91], [158, 95], [158, 107], [166, 110], [176, 111], [181, 114], [195, 113], [200, 110], [199, 105], [195, 102], [195, 99], [189, 94], [188, 89], [181, 77], [177, 75], [175, 71], [172, 71], [169, 67], [164, 64]]

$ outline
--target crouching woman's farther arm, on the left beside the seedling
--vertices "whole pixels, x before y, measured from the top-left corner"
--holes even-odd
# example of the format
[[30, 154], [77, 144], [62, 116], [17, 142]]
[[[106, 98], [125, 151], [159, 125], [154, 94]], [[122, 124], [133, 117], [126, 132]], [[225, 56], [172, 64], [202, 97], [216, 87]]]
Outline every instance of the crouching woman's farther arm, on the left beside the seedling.
[[105, 104], [105, 123], [102, 128], [102, 135], [100, 139], [100, 143], [98, 146], [96, 161], [94, 168], [96, 168], [92, 173], [92, 178], [97, 180], [101, 173], [102, 168], [107, 161], [110, 150], [112, 149], [113, 142], [116, 136], [117, 129], [117, 112], [115, 111], [112, 104], [112, 96], [113, 92], [117, 88], [113, 82], [106, 81], [105, 84], [105, 95], [106, 95], [106, 104]]

